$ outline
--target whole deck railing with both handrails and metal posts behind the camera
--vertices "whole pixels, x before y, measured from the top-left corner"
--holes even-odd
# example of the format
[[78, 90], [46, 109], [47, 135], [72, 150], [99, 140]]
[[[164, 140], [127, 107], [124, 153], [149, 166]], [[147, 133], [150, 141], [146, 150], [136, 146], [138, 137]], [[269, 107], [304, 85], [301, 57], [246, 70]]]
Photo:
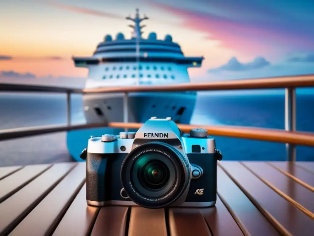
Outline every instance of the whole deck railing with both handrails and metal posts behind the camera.
[[[0, 83], [0, 92], [40, 92], [40, 93], [66, 93], [67, 94], [67, 124], [45, 125], [35, 127], [23, 127], [0, 130], [0, 141], [13, 138], [22, 138], [33, 135], [41, 135], [53, 132], [71, 131], [104, 127], [106, 124], [71, 124], [71, 94], [73, 93], [124, 93], [123, 97], [123, 122], [110, 122], [108, 127], [138, 129], [142, 124], [128, 123], [128, 93], [133, 92], [179, 92], [179, 91], [225, 91], [225, 90], [248, 90], [248, 89], [285, 89], [285, 115], [284, 130], [243, 127], [243, 126], [212, 126], [202, 125], [210, 135], [233, 138], [254, 139], [260, 141], [286, 143], [287, 160], [296, 160], [296, 145], [314, 146], [314, 133], [296, 131], [296, 88], [314, 87], [314, 75], [283, 76], [245, 80], [225, 80], [206, 83], [185, 83], [156, 86], [128, 86], [128, 87], [105, 87], [94, 89], [76, 89], [68, 87], [51, 87], [40, 85]], [[183, 132], [199, 125], [178, 124]]]

